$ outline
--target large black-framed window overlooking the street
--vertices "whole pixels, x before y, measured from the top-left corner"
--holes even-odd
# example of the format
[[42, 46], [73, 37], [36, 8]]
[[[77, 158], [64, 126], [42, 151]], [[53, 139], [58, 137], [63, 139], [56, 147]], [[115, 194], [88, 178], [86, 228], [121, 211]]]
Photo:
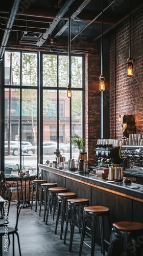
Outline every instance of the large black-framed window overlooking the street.
[[77, 158], [69, 136], [85, 136], [84, 57], [71, 56], [71, 99], [67, 55], [6, 51], [3, 65], [5, 172], [16, 164], [36, 170], [37, 162], [55, 161], [57, 147], [66, 160]]

